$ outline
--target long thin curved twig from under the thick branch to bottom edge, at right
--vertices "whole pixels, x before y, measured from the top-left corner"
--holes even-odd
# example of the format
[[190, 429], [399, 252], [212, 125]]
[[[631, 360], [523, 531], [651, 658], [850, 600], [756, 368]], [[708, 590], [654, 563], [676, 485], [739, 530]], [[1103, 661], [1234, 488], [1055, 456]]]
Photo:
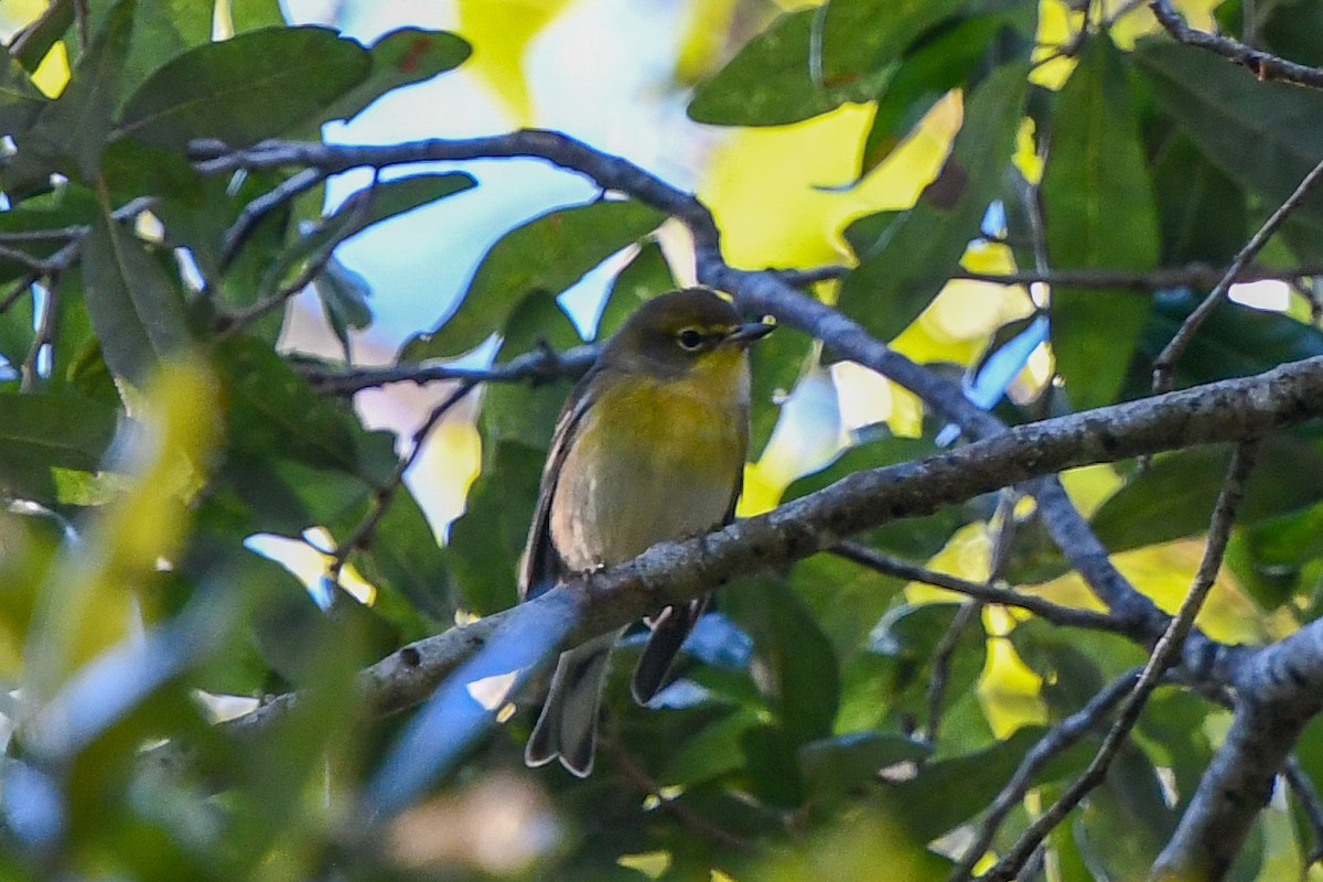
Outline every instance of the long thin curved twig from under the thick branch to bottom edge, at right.
[[1093, 762], [1053, 803], [1053, 805], [1039, 816], [1033, 824], [1020, 836], [1016, 844], [988, 870], [979, 877], [984, 882], [1007, 882], [1012, 879], [1020, 866], [1033, 854], [1033, 850], [1043, 842], [1046, 834], [1056, 828], [1065, 816], [1080, 804], [1089, 791], [1102, 783], [1107, 775], [1111, 760], [1126, 743], [1130, 730], [1139, 719], [1148, 696], [1162, 682], [1167, 669], [1179, 659], [1181, 644], [1191, 628], [1195, 627], [1195, 616], [1204, 606], [1204, 599], [1212, 590], [1221, 569], [1222, 554], [1226, 551], [1226, 542], [1230, 538], [1232, 528], [1236, 525], [1236, 510], [1245, 493], [1245, 481], [1254, 465], [1254, 456], [1258, 451], [1258, 442], [1246, 440], [1236, 447], [1222, 489], [1213, 506], [1212, 521], [1208, 525], [1208, 541], [1204, 545], [1204, 557], [1195, 574], [1195, 582], [1180, 603], [1176, 615], [1172, 616], [1167, 631], [1158, 640], [1148, 662], [1144, 665], [1139, 681], [1130, 694], [1126, 696], [1117, 714], [1117, 722], [1107, 731], [1102, 747], [1094, 755]]

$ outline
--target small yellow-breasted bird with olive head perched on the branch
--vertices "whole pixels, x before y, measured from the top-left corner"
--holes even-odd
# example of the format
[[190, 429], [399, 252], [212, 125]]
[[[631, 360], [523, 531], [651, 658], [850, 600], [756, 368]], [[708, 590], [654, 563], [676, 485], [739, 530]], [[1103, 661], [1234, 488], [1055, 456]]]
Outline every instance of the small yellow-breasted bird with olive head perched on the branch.
[[[705, 288], [663, 294], [626, 319], [556, 424], [520, 599], [732, 520], [749, 448], [746, 350], [771, 328], [742, 323]], [[705, 604], [667, 607], [648, 621], [635, 701], [665, 684]], [[593, 771], [598, 705], [622, 631], [561, 655], [524, 751], [529, 766], [558, 758], [579, 778]]]

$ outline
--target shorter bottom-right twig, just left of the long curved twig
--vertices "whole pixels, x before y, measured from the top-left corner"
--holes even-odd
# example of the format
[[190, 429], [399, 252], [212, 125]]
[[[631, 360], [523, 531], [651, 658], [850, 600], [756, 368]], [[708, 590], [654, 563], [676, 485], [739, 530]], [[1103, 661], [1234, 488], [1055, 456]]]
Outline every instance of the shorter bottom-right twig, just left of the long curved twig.
[[1029, 787], [1033, 784], [1035, 776], [1039, 771], [1048, 764], [1053, 756], [1064, 754], [1066, 750], [1073, 747], [1081, 738], [1098, 727], [1102, 718], [1111, 713], [1113, 707], [1134, 689], [1135, 681], [1139, 678], [1142, 668], [1131, 668], [1126, 673], [1121, 674], [1110, 684], [1103, 686], [1098, 694], [1089, 700], [1084, 707], [1070, 714], [1060, 723], [1049, 729], [1043, 738], [1040, 738], [1033, 747], [1025, 752], [1024, 758], [1020, 760], [1020, 766], [1015, 770], [1002, 789], [998, 792], [992, 804], [988, 807], [987, 812], [983, 815], [983, 820], [979, 822], [979, 830], [974, 837], [974, 841], [964, 852], [964, 857], [960, 858], [959, 865], [953, 870], [949, 882], [966, 882], [970, 874], [974, 871], [974, 865], [979, 862], [983, 854], [992, 845], [992, 840], [996, 837], [998, 830], [1002, 829], [1002, 824], [1005, 821], [1011, 811], [1020, 804], [1024, 795], [1029, 792]]

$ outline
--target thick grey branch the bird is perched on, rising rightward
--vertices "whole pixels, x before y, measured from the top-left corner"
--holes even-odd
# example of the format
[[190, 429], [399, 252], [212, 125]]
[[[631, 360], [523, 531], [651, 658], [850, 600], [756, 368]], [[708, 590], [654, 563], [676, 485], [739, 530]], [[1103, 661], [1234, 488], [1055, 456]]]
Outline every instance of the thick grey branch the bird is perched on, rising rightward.
[[[736, 575], [785, 567], [889, 521], [927, 514], [1066, 468], [1242, 440], [1319, 415], [1323, 357], [1019, 426], [921, 461], [856, 472], [766, 514], [685, 542], [663, 542], [628, 563], [548, 591], [521, 607], [410, 644], [360, 674], [366, 713], [385, 714], [425, 700], [496, 628], [531, 604], [557, 604], [573, 615], [577, 624], [562, 645], [574, 645], [663, 606], [696, 598]], [[1147, 643], [1150, 635], [1140, 629], [1131, 636]], [[1323, 653], [1323, 640], [1314, 649]], [[1323, 672], [1323, 664], [1318, 670]], [[282, 696], [232, 726], [262, 729], [295, 701], [294, 694]]]

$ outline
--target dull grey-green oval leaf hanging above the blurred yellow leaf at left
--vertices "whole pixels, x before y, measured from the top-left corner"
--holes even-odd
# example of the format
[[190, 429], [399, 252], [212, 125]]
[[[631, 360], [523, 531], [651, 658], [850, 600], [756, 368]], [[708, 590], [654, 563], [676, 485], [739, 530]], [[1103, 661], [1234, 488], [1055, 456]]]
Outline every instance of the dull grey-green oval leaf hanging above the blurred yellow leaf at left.
[[108, 212], [83, 242], [82, 266], [87, 315], [111, 373], [140, 385], [164, 358], [189, 348], [179, 287]]

